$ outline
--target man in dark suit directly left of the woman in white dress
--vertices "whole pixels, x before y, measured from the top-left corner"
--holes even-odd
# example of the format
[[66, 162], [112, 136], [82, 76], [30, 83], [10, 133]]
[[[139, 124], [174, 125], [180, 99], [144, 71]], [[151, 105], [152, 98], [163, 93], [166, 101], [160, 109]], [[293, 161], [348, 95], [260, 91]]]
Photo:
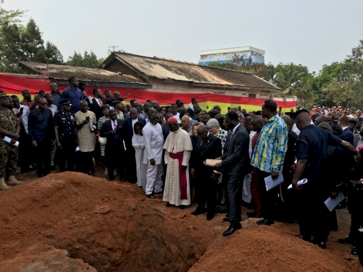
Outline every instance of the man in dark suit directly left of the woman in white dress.
[[136, 161], [135, 161], [135, 149], [132, 146], [132, 137], [134, 136], [134, 125], [136, 122], [142, 122], [145, 124], [145, 119], [137, 117], [137, 109], [135, 107], [130, 109], [130, 118], [125, 120], [124, 123], [124, 137], [126, 145], [126, 157], [127, 157], [127, 181], [136, 183]]

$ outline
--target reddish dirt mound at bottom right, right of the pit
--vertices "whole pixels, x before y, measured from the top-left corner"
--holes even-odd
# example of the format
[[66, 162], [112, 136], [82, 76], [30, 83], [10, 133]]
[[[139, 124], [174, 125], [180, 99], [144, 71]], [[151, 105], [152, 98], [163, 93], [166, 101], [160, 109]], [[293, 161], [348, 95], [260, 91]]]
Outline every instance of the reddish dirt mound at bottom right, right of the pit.
[[362, 271], [350, 263], [308, 242], [277, 229], [260, 226], [240, 231], [220, 248], [211, 246], [190, 269], [197, 271]]

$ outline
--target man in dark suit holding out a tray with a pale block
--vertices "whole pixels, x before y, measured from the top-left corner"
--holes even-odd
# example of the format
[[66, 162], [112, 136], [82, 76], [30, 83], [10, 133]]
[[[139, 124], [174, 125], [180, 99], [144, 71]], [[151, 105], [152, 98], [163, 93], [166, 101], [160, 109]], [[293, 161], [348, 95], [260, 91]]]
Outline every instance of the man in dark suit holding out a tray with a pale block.
[[227, 153], [223, 154], [215, 167], [223, 168], [228, 175], [227, 194], [229, 199], [229, 221], [228, 229], [223, 236], [233, 234], [242, 228], [241, 205], [242, 205], [242, 182], [244, 175], [250, 172], [250, 158], [248, 145], [250, 137], [246, 129], [240, 124], [236, 112], [228, 112], [225, 118], [226, 125], [232, 131]]

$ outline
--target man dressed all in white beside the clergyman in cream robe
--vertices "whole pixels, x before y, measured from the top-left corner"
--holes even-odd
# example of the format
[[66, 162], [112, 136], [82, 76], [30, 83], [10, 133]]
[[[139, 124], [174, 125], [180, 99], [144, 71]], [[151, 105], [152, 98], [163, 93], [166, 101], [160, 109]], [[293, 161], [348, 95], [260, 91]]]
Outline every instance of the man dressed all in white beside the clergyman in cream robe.
[[146, 172], [145, 194], [149, 198], [156, 198], [153, 195], [153, 192], [159, 194], [163, 191], [163, 181], [161, 177], [164, 173], [162, 161], [164, 137], [158, 119], [158, 112], [155, 109], [152, 109], [150, 112], [150, 120], [142, 129], [145, 143], [143, 163], [147, 164], [148, 167]]

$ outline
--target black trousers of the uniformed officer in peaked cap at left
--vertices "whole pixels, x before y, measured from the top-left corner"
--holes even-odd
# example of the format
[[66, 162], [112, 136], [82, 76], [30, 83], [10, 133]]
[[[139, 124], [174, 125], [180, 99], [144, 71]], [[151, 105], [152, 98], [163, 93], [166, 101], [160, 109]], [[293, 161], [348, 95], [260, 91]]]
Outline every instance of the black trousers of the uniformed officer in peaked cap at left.
[[76, 144], [74, 142], [75, 139], [70, 139], [68, 141], [60, 140], [61, 149], [58, 149], [57, 152], [59, 160], [58, 165], [61, 172], [74, 171], [76, 155]]

